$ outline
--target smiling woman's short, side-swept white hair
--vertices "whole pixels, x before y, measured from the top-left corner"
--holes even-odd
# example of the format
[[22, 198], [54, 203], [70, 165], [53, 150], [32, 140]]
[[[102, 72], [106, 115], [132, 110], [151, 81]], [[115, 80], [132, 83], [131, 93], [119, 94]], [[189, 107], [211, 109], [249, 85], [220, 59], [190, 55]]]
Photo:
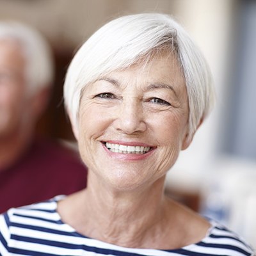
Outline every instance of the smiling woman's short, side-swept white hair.
[[189, 138], [208, 115], [214, 88], [208, 64], [188, 33], [170, 15], [141, 13], [111, 20], [77, 51], [68, 67], [64, 100], [74, 127], [84, 86], [114, 70], [147, 61], [157, 52], [175, 51], [186, 81]]

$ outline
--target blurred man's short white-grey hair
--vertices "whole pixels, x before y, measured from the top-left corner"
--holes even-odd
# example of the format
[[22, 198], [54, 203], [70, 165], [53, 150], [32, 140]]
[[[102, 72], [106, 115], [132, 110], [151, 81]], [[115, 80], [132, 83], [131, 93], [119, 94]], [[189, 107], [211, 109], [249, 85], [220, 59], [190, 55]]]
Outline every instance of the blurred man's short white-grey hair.
[[15, 20], [0, 21], [0, 40], [17, 42], [26, 61], [25, 78], [29, 93], [51, 86], [54, 79], [52, 49], [39, 31]]

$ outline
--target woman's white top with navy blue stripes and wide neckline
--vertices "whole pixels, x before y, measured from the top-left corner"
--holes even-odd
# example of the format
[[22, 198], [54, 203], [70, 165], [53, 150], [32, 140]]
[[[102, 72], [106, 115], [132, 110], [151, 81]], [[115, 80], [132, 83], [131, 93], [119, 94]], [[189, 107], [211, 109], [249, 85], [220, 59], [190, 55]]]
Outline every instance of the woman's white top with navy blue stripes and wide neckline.
[[233, 232], [212, 222], [199, 243], [177, 250], [125, 248], [83, 236], [61, 221], [56, 196], [47, 202], [10, 209], [0, 215], [0, 255], [253, 255], [253, 250]]

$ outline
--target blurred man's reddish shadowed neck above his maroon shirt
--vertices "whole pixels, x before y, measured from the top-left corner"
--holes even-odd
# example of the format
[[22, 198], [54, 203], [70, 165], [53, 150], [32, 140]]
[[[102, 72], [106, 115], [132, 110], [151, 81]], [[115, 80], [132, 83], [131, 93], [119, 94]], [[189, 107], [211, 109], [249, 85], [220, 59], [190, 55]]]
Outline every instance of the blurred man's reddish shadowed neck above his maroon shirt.
[[13, 133], [12, 136], [0, 138], [0, 172], [15, 163], [31, 143], [31, 133]]

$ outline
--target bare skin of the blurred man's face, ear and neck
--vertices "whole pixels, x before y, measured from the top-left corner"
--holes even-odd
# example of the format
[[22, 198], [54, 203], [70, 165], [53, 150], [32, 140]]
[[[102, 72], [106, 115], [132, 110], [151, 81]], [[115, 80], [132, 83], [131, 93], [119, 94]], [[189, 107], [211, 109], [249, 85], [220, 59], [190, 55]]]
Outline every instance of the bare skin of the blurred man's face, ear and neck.
[[35, 122], [46, 104], [47, 93], [29, 95], [25, 68], [20, 45], [0, 39], [0, 172], [29, 146]]

